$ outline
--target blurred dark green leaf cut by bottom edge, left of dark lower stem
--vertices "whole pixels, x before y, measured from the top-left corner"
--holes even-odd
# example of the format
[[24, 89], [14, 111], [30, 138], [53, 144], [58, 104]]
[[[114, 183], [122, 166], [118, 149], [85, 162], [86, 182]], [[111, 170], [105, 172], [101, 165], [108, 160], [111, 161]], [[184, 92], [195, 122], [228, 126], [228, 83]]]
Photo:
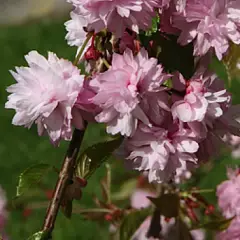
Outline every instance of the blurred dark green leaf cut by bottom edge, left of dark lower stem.
[[120, 226], [120, 240], [129, 240], [144, 222], [144, 220], [151, 215], [151, 210], [145, 208], [142, 210], [136, 210], [125, 216]]

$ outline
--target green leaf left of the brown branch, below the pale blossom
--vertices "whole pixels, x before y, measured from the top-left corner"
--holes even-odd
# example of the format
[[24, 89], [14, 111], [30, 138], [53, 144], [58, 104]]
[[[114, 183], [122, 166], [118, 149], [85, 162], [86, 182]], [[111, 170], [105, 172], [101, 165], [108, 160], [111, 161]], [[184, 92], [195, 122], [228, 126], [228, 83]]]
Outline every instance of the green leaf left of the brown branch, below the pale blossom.
[[27, 168], [19, 177], [17, 197], [28, 194], [30, 189], [35, 190], [50, 170], [53, 170], [53, 166], [43, 163]]

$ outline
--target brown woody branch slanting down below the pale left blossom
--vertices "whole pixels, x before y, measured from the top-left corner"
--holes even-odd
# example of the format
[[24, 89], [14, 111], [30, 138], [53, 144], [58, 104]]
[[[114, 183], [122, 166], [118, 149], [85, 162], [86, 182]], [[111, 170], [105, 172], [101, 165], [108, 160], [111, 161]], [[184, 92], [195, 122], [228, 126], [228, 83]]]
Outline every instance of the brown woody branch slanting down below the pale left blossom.
[[75, 129], [72, 140], [69, 144], [67, 154], [63, 161], [62, 169], [59, 173], [58, 181], [54, 189], [53, 198], [48, 207], [46, 217], [43, 224], [43, 231], [48, 233], [48, 238], [51, 238], [57, 214], [64, 197], [66, 187], [72, 183], [76, 158], [80, 149], [84, 136], [84, 131]]

